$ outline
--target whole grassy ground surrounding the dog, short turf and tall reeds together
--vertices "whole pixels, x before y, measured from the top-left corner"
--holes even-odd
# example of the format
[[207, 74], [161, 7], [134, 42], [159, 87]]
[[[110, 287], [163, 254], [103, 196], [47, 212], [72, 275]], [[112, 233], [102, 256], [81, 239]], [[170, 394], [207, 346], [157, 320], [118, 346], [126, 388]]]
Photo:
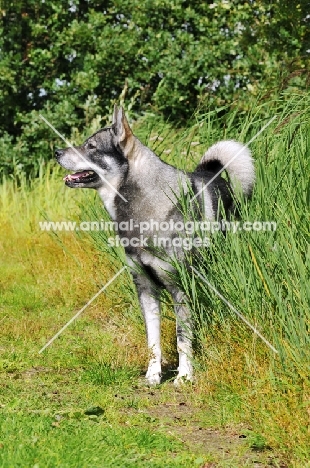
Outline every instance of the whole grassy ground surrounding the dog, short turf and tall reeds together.
[[[309, 100], [248, 115], [201, 116], [186, 130], [155, 117], [136, 132], [190, 170], [219, 139], [249, 141], [257, 183], [242, 218], [275, 232], [214, 235], [199, 269], [276, 347], [275, 355], [199, 278], [178, 266], [196, 322], [196, 381], [176, 391], [174, 317], [163, 310], [164, 383], [149, 389], [144, 325], [124, 272], [46, 351], [44, 344], [119, 269], [105, 233], [43, 232], [39, 221], [105, 217], [63, 172], [4, 180], [0, 241], [1, 467], [309, 465]], [[242, 124], [240, 124], [242, 122]], [[53, 138], [53, 136], [51, 136]]]

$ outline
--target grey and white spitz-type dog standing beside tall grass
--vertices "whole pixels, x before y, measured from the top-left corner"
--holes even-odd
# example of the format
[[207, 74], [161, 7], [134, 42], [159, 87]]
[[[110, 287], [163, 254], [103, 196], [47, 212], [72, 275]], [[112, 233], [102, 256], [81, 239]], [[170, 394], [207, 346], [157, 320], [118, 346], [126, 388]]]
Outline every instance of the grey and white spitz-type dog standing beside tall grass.
[[[232, 191], [239, 187], [245, 196], [252, 192], [254, 166], [250, 151], [235, 141], [220, 141], [202, 157], [196, 170], [185, 173], [163, 162], [134, 136], [122, 108], [115, 106], [113, 123], [89, 137], [78, 147], [58, 149], [56, 159], [74, 174], [65, 177], [71, 188], [93, 188], [101, 197], [110, 217], [117, 224], [128, 222], [132, 229], [119, 229], [128, 264], [143, 312], [150, 352], [146, 380], [156, 385], [161, 380], [160, 289], [171, 294], [177, 319], [178, 375], [175, 384], [193, 380], [192, 320], [183, 292], [172, 279], [172, 256], [182, 258], [182, 246], [174, 243], [175, 226], [184, 214], [178, 206], [182, 194], [196, 194], [201, 218], [216, 220], [219, 200], [226, 212], [233, 208]], [[227, 165], [230, 183], [216, 176]], [[171, 224], [171, 221], [173, 223]], [[123, 223], [124, 225], [124, 223]], [[140, 238], [143, 225], [145, 238]], [[137, 237], [138, 235], [138, 237]], [[154, 252], [154, 241], [163, 235], [171, 242], [164, 256]], [[151, 241], [151, 242], [150, 242]]]

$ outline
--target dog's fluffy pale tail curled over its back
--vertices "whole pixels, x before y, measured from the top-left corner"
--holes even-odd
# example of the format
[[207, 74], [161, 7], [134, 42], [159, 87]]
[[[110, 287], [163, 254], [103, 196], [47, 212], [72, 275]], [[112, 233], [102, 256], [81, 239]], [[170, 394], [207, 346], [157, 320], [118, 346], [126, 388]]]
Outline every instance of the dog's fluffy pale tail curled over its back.
[[227, 171], [234, 190], [242, 189], [244, 195], [252, 193], [255, 181], [255, 169], [250, 150], [233, 140], [219, 141], [203, 155], [196, 171]]

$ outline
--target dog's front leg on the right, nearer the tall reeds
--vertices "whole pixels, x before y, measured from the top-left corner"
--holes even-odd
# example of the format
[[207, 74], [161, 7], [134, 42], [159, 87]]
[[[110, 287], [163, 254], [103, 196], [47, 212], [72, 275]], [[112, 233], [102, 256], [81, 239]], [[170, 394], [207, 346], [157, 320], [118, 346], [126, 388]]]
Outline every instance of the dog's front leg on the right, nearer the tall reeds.
[[191, 312], [185, 303], [185, 295], [180, 290], [170, 291], [173, 297], [176, 314], [177, 347], [179, 353], [178, 375], [174, 385], [178, 386], [184, 381], [193, 381], [193, 331]]

